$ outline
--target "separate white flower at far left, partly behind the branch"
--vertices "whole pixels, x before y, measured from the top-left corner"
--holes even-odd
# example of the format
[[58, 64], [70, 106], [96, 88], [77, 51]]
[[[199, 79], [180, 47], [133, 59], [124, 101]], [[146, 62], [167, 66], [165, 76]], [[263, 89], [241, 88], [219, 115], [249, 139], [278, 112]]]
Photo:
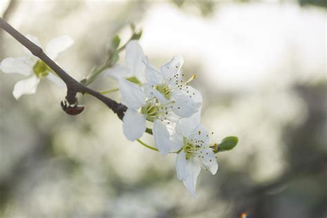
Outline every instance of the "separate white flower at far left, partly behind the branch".
[[[30, 41], [40, 45], [39, 40], [37, 37], [33, 37], [32, 35], [27, 36]], [[73, 41], [68, 36], [58, 37], [56, 39], [52, 39], [48, 45], [46, 46], [46, 54], [52, 60], [57, 59], [59, 54], [69, 48], [72, 45]], [[23, 48], [24, 52], [26, 53], [26, 57], [8, 57], [1, 61], [1, 70], [5, 73], [18, 73], [23, 76], [30, 76], [28, 79], [22, 79], [18, 81], [14, 85], [14, 90], [12, 91], [12, 95], [16, 99], [19, 99], [21, 95], [30, 95], [34, 94], [37, 91], [37, 85], [40, 82], [42, 77], [46, 77], [53, 81], [58, 86], [65, 87], [65, 83], [61, 81], [57, 75], [54, 74], [51, 68], [49, 68], [46, 63], [34, 57], [34, 55]]]

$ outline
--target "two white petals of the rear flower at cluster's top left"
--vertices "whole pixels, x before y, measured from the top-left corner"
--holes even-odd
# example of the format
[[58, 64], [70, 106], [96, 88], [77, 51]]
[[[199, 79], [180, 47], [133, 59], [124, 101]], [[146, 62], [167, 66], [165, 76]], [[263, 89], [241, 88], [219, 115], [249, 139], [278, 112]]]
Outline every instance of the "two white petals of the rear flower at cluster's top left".
[[135, 77], [139, 81], [144, 81], [144, 63], [141, 61], [143, 58], [143, 50], [137, 40], [131, 40], [126, 45], [125, 61], [126, 66], [117, 64], [112, 68], [103, 71], [103, 76], [119, 78]]

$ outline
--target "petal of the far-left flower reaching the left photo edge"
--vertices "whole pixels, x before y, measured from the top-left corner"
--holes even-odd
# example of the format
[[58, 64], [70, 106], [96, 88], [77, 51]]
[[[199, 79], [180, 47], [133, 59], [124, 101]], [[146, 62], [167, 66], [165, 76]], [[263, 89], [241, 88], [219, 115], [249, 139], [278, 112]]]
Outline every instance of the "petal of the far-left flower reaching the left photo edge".
[[29, 57], [8, 57], [1, 61], [1, 69], [6, 73], [19, 73], [28, 76], [32, 74], [34, 62]]

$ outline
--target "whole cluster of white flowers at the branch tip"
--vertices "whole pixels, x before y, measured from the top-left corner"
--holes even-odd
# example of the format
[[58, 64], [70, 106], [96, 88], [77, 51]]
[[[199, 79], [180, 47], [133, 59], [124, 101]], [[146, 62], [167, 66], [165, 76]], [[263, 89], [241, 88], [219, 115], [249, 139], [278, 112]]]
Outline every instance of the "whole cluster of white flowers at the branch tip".
[[[195, 195], [201, 168], [212, 175], [218, 170], [210, 134], [201, 125], [201, 93], [184, 80], [184, 60], [174, 56], [157, 70], [137, 41], [126, 46], [126, 66], [106, 70], [119, 81], [122, 102], [128, 107], [123, 117], [123, 132], [135, 141], [153, 127], [155, 145], [161, 155], [177, 153], [177, 178]], [[134, 79], [133, 79], [134, 78]], [[135, 82], [137, 81], [137, 82]]]

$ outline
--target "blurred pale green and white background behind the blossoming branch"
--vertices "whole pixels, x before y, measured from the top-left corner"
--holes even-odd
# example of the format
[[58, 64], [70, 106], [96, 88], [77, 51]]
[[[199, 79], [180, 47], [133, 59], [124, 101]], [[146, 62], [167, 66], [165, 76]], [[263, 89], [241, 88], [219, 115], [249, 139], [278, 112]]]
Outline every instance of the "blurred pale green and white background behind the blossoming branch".
[[[0, 217], [327, 217], [326, 1], [0, 1], [1, 17], [43, 46], [67, 34], [57, 61], [83, 79], [130, 22], [158, 68], [175, 54], [197, 74], [202, 122], [239, 145], [202, 171], [197, 199], [177, 180], [175, 155], [125, 139], [101, 102], [70, 117], [66, 90], [43, 80], [12, 96], [20, 75], [0, 73]], [[0, 32], [0, 59], [21, 57]], [[124, 64], [124, 54], [119, 63]], [[97, 90], [117, 88], [103, 78]], [[119, 94], [109, 97], [119, 101]], [[143, 141], [153, 144], [148, 135]]]

